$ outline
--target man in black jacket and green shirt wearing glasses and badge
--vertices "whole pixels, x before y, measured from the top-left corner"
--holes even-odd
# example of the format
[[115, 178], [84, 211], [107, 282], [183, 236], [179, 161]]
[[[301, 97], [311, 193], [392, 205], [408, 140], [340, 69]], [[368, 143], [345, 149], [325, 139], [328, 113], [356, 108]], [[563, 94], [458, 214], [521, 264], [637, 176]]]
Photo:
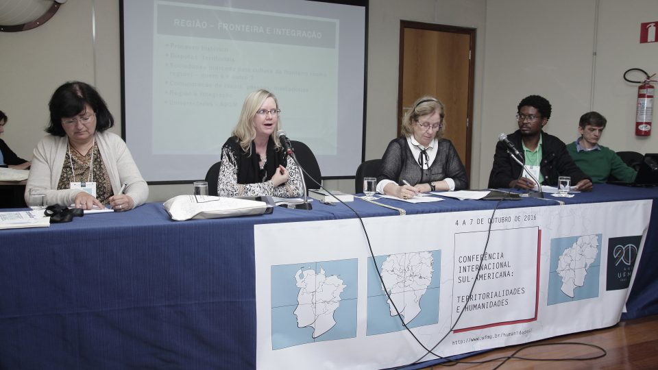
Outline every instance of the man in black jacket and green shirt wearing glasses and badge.
[[544, 185], [557, 186], [559, 176], [569, 176], [574, 184], [572, 189], [592, 190], [592, 179], [574, 164], [562, 140], [541, 130], [548, 123], [550, 112], [550, 103], [544, 97], [530, 95], [522, 99], [516, 114], [519, 130], [507, 138], [520, 151], [526, 169], [507, 153], [505, 143], [498, 142], [489, 188], [533, 189], [535, 181], [524, 173], [530, 171]]

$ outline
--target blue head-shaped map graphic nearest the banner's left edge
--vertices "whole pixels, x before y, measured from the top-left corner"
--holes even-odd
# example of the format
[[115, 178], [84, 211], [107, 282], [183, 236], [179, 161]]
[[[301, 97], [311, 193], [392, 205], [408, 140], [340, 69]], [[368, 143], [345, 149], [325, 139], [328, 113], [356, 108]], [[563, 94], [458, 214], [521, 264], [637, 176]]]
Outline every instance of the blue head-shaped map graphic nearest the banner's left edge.
[[272, 349], [356, 336], [356, 259], [271, 267]]

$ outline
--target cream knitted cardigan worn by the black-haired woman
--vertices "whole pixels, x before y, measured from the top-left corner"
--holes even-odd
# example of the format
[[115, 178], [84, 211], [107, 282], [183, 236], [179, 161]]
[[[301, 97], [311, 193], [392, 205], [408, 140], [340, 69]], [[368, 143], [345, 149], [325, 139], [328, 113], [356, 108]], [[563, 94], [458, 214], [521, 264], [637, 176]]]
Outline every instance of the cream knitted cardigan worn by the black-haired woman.
[[[134, 201], [135, 207], [143, 204], [149, 196], [149, 186], [137, 169], [130, 151], [117, 135], [111, 132], [96, 132], [96, 143], [103, 159], [106, 171], [110, 177], [112, 191], [118, 195], [121, 185], [125, 182], [125, 195]], [[42, 138], [34, 149], [32, 166], [29, 169], [27, 185], [25, 186], [25, 202], [28, 202], [29, 189], [40, 188], [45, 190], [46, 203], [48, 205], [60, 204], [71, 206], [75, 201], [75, 195], [80, 189], [57, 190], [64, 158], [68, 151], [69, 139], [64, 136], [49, 135]]]

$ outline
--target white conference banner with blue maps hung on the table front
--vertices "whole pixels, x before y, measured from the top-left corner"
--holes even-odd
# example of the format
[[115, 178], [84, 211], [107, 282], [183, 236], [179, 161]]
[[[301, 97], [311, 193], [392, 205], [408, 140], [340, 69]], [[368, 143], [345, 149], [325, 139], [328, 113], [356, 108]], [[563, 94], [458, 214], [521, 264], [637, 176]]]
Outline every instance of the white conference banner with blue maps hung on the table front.
[[426, 347], [450, 333], [440, 356], [614, 325], [651, 204], [363, 219], [376, 263], [357, 219], [256, 225], [257, 367], [436, 358], [402, 320]]

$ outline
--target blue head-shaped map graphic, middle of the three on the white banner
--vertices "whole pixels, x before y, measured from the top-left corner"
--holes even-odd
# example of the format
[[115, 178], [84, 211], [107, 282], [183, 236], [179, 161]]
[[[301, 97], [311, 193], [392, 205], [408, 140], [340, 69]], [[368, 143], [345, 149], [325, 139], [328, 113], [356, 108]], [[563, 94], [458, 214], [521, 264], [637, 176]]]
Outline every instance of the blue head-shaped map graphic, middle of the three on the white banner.
[[439, 322], [440, 250], [377, 256], [375, 261], [393, 302], [369, 258], [367, 335], [404, 330], [395, 307], [409, 328]]

